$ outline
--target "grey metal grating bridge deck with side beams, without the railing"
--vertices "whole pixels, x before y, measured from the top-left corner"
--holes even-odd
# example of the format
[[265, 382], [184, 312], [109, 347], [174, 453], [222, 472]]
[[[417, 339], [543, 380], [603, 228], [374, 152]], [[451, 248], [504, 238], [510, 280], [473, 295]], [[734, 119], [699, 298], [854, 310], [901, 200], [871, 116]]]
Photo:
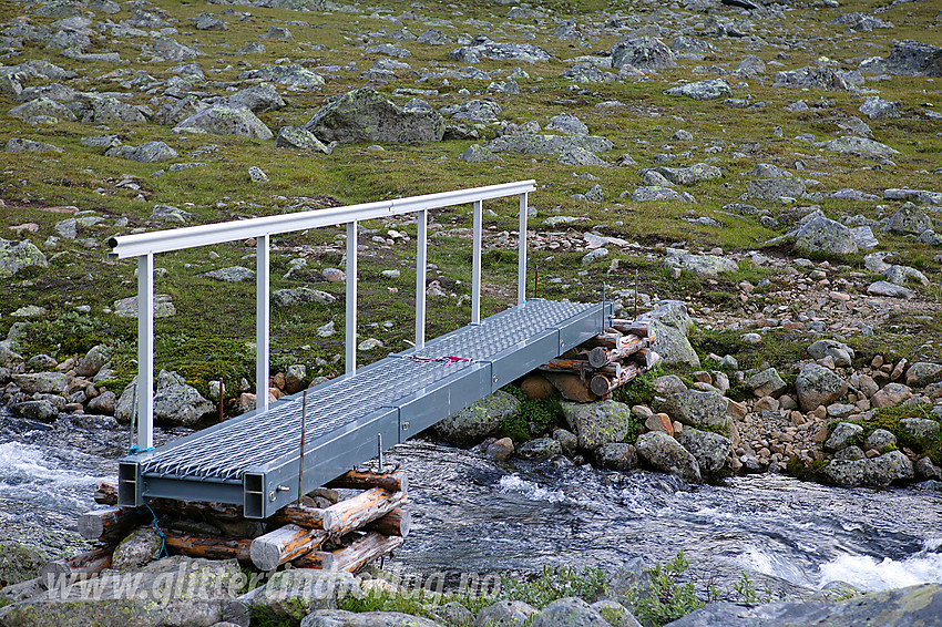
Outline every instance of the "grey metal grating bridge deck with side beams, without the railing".
[[[611, 306], [606, 308], [611, 314]], [[298, 495], [301, 414], [308, 492], [407, 440], [603, 330], [598, 304], [532, 299], [303, 393], [130, 455], [119, 500], [244, 505], [264, 518]], [[447, 357], [460, 361], [430, 361]]]

